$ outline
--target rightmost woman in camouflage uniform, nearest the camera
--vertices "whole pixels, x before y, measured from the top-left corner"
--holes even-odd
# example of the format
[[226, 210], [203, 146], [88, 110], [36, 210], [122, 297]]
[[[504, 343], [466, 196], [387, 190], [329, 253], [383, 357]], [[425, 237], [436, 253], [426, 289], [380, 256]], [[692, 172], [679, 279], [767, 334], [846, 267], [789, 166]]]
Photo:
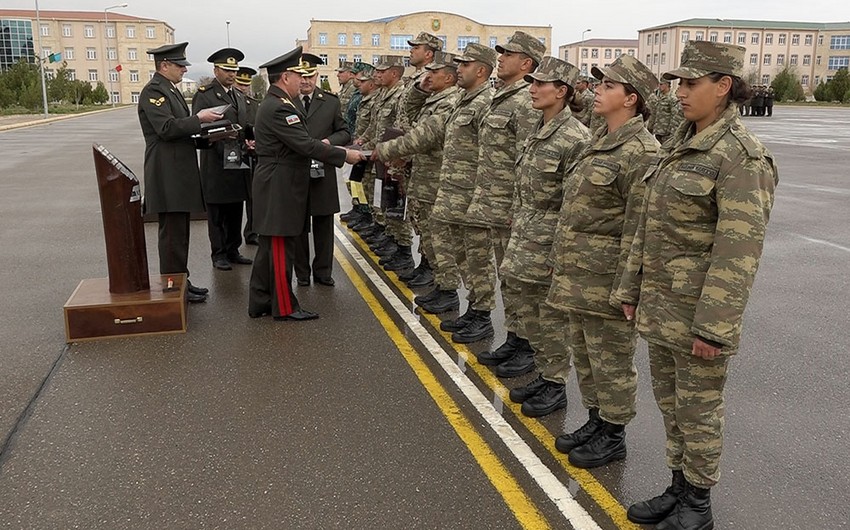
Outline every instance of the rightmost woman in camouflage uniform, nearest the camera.
[[667, 434], [667, 490], [628, 517], [660, 530], [713, 528], [723, 387], [741, 338], [778, 172], [736, 105], [745, 48], [689, 42], [677, 96], [686, 125], [651, 169], [640, 225], [616, 299], [649, 343], [655, 400]]

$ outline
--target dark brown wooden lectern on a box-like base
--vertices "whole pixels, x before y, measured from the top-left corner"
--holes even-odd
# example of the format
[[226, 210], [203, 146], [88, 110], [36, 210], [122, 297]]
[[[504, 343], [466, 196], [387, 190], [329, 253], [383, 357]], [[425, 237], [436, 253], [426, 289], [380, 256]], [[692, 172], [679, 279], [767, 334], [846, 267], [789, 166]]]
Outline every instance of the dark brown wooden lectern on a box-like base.
[[108, 278], [83, 280], [65, 303], [68, 342], [186, 331], [186, 275], [148, 273], [139, 179], [93, 146]]

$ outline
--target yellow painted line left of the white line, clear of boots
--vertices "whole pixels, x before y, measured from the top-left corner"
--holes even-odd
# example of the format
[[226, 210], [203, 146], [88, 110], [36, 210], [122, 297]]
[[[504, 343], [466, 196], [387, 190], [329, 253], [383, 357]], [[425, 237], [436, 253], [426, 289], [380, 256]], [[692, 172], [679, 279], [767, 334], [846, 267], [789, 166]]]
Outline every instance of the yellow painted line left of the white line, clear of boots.
[[422, 386], [428, 391], [431, 399], [437, 404], [440, 412], [446, 417], [449, 424], [454, 428], [457, 435], [466, 444], [469, 452], [478, 462], [478, 465], [487, 475], [487, 478], [502, 496], [508, 508], [513, 512], [517, 521], [523, 528], [545, 529], [551, 528], [546, 518], [537, 509], [525, 491], [520, 487], [516, 479], [505, 468], [496, 454], [490, 449], [481, 435], [475, 430], [469, 419], [461, 412], [457, 403], [449, 396], [448, 392], [440, 385], [437, 378], [422, 360], [410, 342], [404, 337], [395, 325], [392, 318], [381, 306], [375, 295], [369, 290], [360, 276], [352, 267], [351, 263], [336, 249], [335, 255], [348, 278], [360, 292], [360, 296], [372, 309], [375, 318], [389, 335], [396, 348], [401, 352], [407, 364], [413, 369]]

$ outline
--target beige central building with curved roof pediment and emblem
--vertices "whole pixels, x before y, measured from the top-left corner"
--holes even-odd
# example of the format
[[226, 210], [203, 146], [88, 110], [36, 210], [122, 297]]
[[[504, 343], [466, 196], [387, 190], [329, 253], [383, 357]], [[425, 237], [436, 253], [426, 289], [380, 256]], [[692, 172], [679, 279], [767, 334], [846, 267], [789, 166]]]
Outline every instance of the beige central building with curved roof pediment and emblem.
[[320, 79], [327, 79], [338, 88], [334, 69], [341, 61], [377, 64], [381, 55], [407, 57], [408, 40], [422, 31], [438, 36], [443, 49], [457, 53], [470, 42], [490, 46], [504, 44], [514, 31], [525, 31], [539, 38], [551, 50], [552, 26], [503, 26], [482, 24], [452, 13], [423, 11], [367, 22], [351, 20], [311, 20], [307, 38], [298, 44], [305, 51], [321, 57]]

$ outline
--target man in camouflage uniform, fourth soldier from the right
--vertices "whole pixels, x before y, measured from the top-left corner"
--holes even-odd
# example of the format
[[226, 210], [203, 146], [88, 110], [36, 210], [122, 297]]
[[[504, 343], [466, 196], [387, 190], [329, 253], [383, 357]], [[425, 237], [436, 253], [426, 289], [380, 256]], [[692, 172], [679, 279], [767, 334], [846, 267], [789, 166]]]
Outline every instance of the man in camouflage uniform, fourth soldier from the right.
[[[453, 332], [452, 340], [461, 343], [493, 335], [490, 312], [496, 308], [496, 271], [502, 264], [511, 233], [516, 158], [540, 118], [540, 113], [531, 108], [528, 82], [523, 77], [537, 68], [546, 46], [536, 37], [517, 31], [504, 46], [496, 46], [496, 51], [501, 54], [496, 75], [504, 81], [504, 86], [493, 95], [478, 133], [475, 189], [464, 223], [470, 289], [475, 292], [475, 298], [470, 300], [466, 313], [440, 325], [443, 331]], [[515, 333], [517, 296], [510, 291], [506, 283], [502, 298], [509, 335], [506, 348], [500, 352], [507, 354], [502, 359], [517, 350], [520, 340]], [[524, 346], [527, 348], [527, 344]]]

